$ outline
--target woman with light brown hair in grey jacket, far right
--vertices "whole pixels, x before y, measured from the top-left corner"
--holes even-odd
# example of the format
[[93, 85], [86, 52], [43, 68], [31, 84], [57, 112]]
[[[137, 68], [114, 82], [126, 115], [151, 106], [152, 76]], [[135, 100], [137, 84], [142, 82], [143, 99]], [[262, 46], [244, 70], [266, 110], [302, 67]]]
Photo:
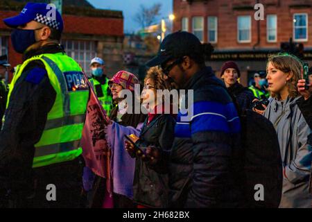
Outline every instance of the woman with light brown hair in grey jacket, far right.
[[302, 62], [281, 54], [268, 59], [267, 79], [272, 100], [264, 116], [275, 126], [284, 167], [284, 180], [279, 207], [311, 207], [309, 177], [312, 147], [307, 143], [311, 128], [298, 108], [297, 91]]

